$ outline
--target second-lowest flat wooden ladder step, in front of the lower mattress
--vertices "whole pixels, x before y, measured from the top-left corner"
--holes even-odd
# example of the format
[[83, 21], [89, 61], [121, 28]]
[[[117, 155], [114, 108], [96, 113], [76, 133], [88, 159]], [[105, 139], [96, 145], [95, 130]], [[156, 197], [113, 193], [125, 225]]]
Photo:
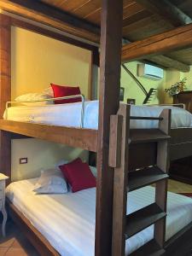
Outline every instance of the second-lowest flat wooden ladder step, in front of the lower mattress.
[[125, 239], [134, 236], [165, 217], [166, 212], [163, 212], [156, 203], [144, 207], [137, 212], [132, 212], [126, 216]]

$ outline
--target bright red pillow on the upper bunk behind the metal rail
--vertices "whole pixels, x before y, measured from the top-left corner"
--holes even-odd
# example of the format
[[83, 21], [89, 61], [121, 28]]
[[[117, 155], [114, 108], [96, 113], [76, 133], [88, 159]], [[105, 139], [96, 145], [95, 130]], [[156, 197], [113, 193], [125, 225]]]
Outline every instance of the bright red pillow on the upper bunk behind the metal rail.
[[[63, 96], [73, 96], [73, 95], [79, 95], [81, 94], [79, 87], [72, 87], [72, 86], [61, 86], [57, 84], [50, 84], [53, 92], [54, 97], [63, 97]], [[73, 98], [73, 99], [67, 99], [67, 100], [57, 100], [55, 101], [55, 104], [63, 104], [63, 103], [73, 103], [73, 102], [81, 102], [81, 98]]]

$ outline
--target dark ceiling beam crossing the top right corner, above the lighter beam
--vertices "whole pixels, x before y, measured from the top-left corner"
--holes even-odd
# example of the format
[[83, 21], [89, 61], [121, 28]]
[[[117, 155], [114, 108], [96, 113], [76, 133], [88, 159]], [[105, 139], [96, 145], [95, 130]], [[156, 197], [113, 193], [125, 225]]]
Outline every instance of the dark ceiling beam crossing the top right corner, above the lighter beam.
[[136, 0], [151, 11], [154, 14], [160, 15], [172, 26], [183, 26], [185, 24], [192, 23], [192, 19], [183, 13], [181, 9], [178, 9], [175, 5], [168, 0]]

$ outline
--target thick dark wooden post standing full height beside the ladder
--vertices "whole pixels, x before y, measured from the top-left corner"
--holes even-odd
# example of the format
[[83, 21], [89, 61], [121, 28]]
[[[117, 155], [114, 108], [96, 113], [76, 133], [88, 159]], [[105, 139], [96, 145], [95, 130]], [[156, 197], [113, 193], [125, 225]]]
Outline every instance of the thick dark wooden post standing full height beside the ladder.
[[96, 256], [111, 255], [113, 168], [108, 166], [110, 116], [119, 109], [123, 1], [102, 0], [99, 130], [96, 184]]

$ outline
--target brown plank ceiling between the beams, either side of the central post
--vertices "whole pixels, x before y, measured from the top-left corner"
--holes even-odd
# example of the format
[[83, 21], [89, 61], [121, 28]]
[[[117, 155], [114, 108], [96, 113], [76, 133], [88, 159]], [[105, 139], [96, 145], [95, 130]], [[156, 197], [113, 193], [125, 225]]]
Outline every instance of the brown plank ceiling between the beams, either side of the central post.
[[[41, 0], [100, 26], [102, 0]], [[172, 24], [133, 0], [124, 1], [123, 34], [130, 41], [172, 29]]]

